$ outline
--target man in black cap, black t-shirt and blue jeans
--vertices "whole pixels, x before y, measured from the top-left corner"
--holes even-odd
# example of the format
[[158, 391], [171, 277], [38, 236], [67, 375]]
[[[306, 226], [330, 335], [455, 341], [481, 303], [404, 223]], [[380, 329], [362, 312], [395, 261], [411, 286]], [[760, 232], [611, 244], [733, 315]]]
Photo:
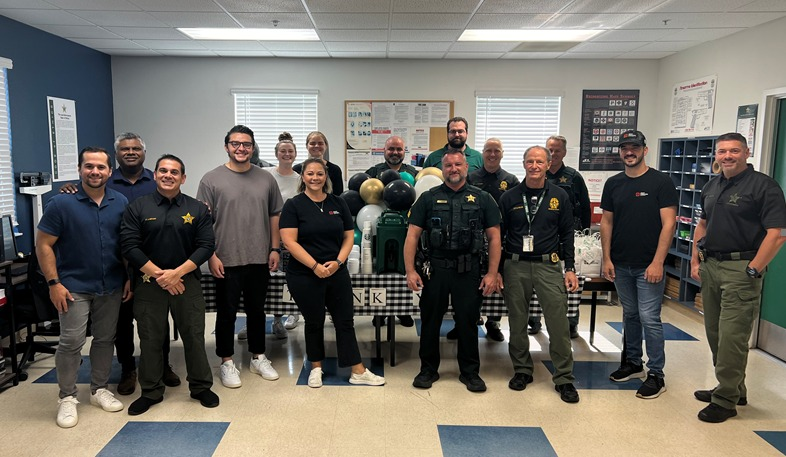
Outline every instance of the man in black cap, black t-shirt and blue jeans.
[[644, 162], [644, 135], [629, 130], [620, 136], [619, 154], [625, 171], [609, 178], [600, 206], [603, 275], [614, 281], [624, 320], [625, 354], [609, 377], [622, 382], [644, 378], [642, 328], [647, 343], [646, 381], [639, 398], [657, 398], [666, 391], [663, 323], [660, 319], [666, 278], [663, 263], [677, 224], [679, 196], [671, 178]]

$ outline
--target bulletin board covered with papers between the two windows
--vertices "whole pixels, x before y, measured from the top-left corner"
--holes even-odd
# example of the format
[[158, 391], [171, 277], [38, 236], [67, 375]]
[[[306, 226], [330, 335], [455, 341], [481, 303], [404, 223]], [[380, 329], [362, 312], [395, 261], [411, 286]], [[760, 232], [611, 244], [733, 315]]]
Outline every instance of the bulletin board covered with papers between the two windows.
[[344, 159], [346, 176], [383, 162], [385, 140], [404, 139], [405, 163], [416, 154], [428, 155], [448, 141], [447, 122], [453, 100], [345, 100]]

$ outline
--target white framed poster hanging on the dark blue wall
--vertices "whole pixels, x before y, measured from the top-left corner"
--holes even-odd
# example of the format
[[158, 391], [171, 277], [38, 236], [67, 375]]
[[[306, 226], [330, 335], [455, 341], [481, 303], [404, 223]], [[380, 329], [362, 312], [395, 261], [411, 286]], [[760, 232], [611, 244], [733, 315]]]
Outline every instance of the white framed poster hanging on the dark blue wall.
[[49, 113], [52, 181], [73, 181], [79, 178], [76, 103], [64, 98], [46, 97], [46, 104]]

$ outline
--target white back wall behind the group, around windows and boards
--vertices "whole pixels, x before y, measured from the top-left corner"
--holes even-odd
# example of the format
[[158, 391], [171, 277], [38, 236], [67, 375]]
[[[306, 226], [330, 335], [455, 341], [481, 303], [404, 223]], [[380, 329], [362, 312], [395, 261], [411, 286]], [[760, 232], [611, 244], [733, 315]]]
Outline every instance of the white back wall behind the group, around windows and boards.
[[[163, 153], [183, 158], [184, 191], [193, 195], [202, 175], [226, 161], [223, 139], [234, 121], [231, 89], [319, 90], [319, 129], [331, 143], [330, 160], [343, 167], [344, 101], [355, 99], [455, 100], [455, 114], [471, 124], [470, 144], [479, 147], [472, 144], [476, 90], [557, 90], [564, 96], [560, 133], [570, 148], [578, 143], [582, 90], [639, 89], [639, 129], [655, 139], [658, 65], [654, 60], [113, 57], [115, 130], [142, 135], [149, 167]], [[304, 158], [305, 139], [296, 141]]]

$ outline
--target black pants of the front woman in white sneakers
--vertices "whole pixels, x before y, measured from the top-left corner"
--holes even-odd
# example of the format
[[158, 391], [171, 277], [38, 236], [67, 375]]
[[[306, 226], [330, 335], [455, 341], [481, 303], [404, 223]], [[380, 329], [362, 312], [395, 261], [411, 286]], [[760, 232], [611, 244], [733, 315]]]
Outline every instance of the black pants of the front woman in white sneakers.
[[287, 272], [287, 286], [305, 320], [306, 357], [310, 362], [325, 358], [325, 308], [333, 316], [336, 328], [338, 366], [360, 363], [360, 349], [355, 336], [355, 308], [352, 281], [346, 268], [334, 275], [319, 278], [312, 272]]

